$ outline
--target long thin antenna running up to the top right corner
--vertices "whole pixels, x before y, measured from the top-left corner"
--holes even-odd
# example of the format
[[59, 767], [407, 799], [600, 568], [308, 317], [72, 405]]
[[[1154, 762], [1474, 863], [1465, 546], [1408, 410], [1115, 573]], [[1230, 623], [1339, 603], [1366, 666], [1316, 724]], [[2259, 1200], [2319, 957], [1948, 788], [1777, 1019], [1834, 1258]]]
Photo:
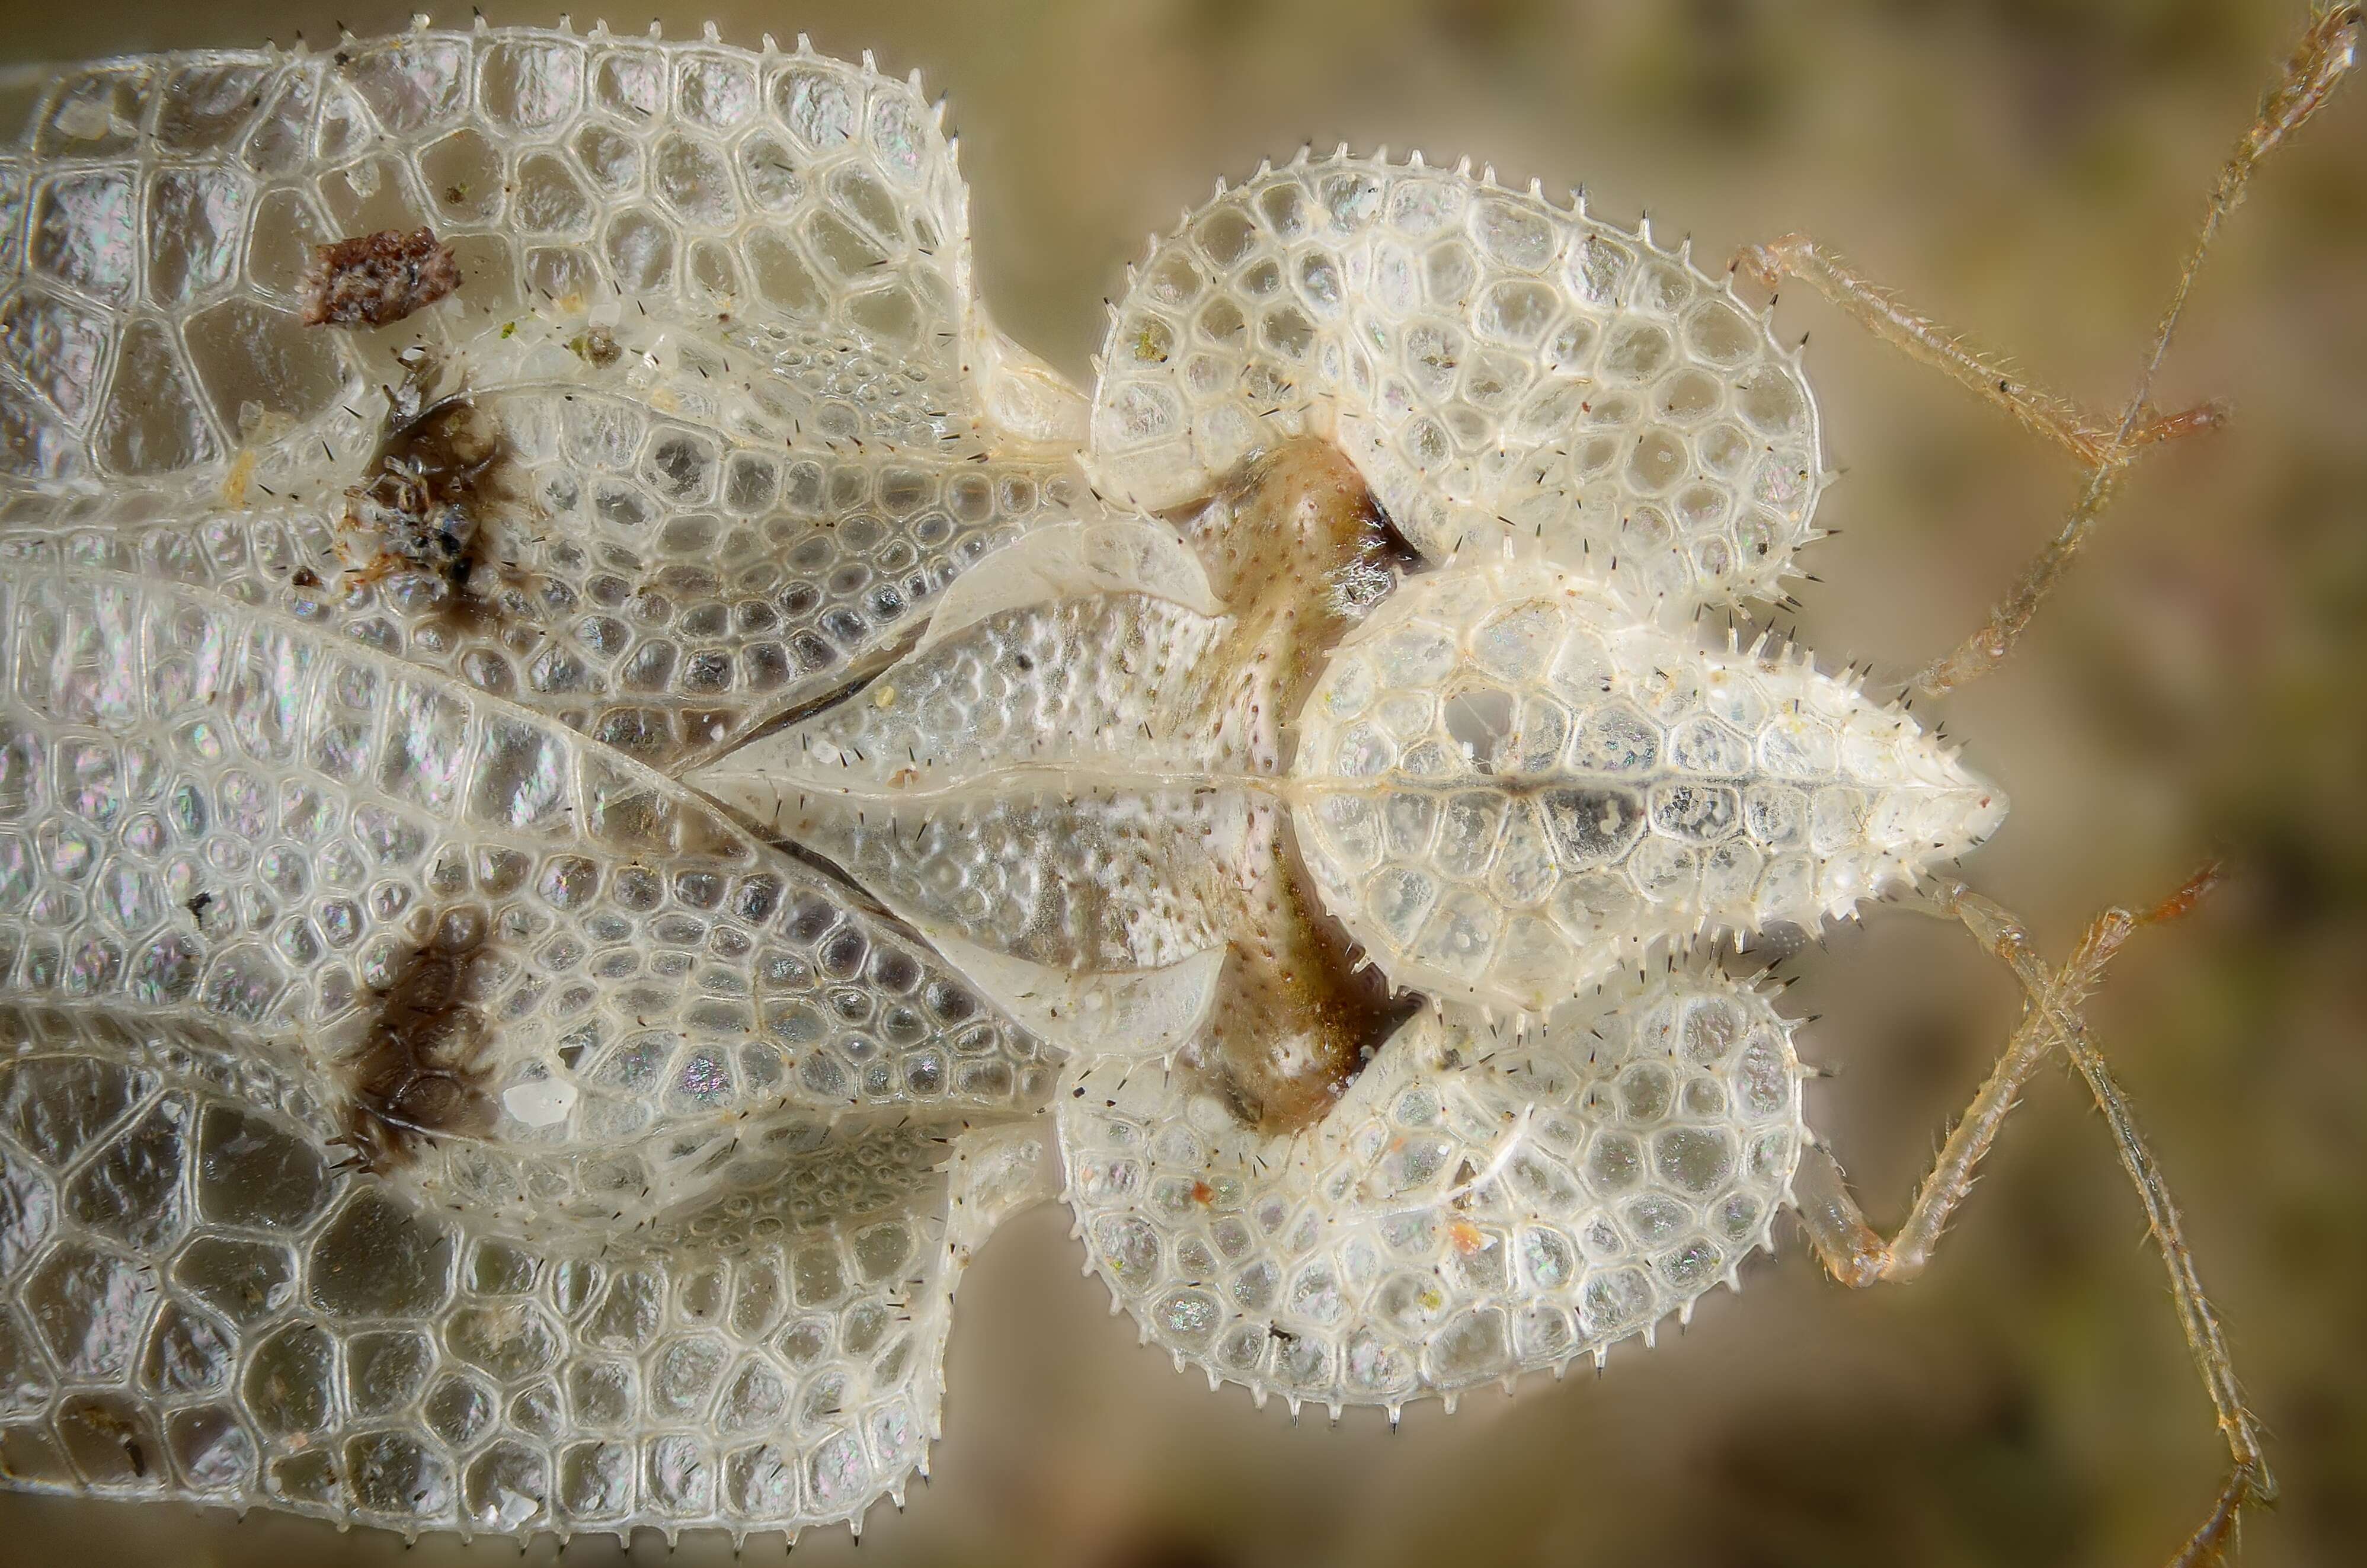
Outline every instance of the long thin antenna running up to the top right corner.
[[[2047, 547], [2038, 552], [2038, 559], [2024, 568], [2021, 580], [2017, 580], [2014, 587], [1998, 599], [1998, 606], [1988, 611], [1988, 621], [1960, 642], [1955, 651], [1934, 661], [1915, 677], [1915, 687], [1920, 692], [1936, 696], [1998, 668], [2021, 637], [2021, 628], [2031, 623], [2031, 616], [2038, 613], [2038, 606], [2050, 592], [2055, 592], [2055, 585], [2071, 568], [2071, 561], [2095, 535], [2097, 519], [2118, 493], [2121, 469], [2128, 464], [2130, 452], [2140, 445], [2140, 431], [2149, 424], [2152, 405], [2147, 403], [2147, 393], [2152, 391], [2154, 374], [2161, 369], [2161, 360], [2171, 351], [2171, 336], [2178, 332], [2178, 317], [2185, 315], [2187, 296], [2194, 291], [2194, 277], [2201, 272], [2204, 258], [2211, 253], [2211, 242], [2218, 239], [2220, 223], [2225, 223], [2227, 213], [2232, 213], [2244, 199], [2244, 189], [2251, 185], [2251, 175], [2260, 166], [2260, 159], [2301, 130], [2301, 126], [2317, 114], [2327, 97], [2334, 95], [2341, 78], [2358, 62], [2360, 26], [2362, 14], [2358, 5], [2336, 5], [2313, 12], [2308, 31], [2294, 47], [2291, 59], [2284, 62], [2284, 76], [2279, 76], [2277, 85], [2260, 99], [2260, 111], [2237, 140], [2227, 163], [2220, 166], [2218, 182], [2211, 187], [2211, 201], [2204, 208], [2201, 232], [2197, 232], [2194, 244], [2187, 251], [2185, 268], [2178, 272], [2178, 287], [2171, 291], [2171, 303], [2161, 313], [2161, 327], [2154, 329], [2154, 346], [2147, 353], [2145, 372], [2137, 377], [2137, 391], [2121, 415], [2118, 431], [2114, 431], [2114, 438], [2090, 469], [2088, 486], [2081, 493], [2078, 505], [2071, 507], [2071, 516], [2055, 533], [2055, 538], [2047, 540]], [[2185, 415], [2175, 415], [2173, 419], [2185, 419]]]

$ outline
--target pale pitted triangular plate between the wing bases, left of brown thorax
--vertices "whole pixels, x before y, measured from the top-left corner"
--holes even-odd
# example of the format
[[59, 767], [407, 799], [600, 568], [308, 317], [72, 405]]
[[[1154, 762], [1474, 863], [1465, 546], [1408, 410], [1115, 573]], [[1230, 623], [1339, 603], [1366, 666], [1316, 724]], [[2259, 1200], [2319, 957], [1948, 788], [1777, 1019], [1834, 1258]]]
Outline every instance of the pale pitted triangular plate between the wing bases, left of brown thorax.
[[[1096, 552], [1112, 559], [1094, 592], [978, 604], [961, 625], [968, 606], [947, 602], [928, 647], [862, 696], [691, 782], [921, 931], [1027, 964], [1122, 973], [1224, 945], [1221, 888], [1255, 876], [1271, 798], [1226, 734], [1228, 621], [1193, 609], [1191, 557], [1139, 521], [1056, 526], [963, 592], [1023, 597]], [[1160, 583], [1176, 597], [1146, 592]]]

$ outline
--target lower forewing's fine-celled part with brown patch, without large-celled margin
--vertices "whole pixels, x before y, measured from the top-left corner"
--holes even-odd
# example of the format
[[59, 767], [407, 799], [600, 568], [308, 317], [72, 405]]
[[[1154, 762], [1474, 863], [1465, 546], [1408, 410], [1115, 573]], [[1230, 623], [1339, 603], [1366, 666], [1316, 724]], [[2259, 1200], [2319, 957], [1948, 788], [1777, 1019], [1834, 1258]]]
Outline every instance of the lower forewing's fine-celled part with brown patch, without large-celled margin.
[[1051, 1092], [928, 947], [552, 720], [168, 583], [28, 573], [0, 625], [0, 990], [230, 1030], [478, 1227], [670, 1227]]

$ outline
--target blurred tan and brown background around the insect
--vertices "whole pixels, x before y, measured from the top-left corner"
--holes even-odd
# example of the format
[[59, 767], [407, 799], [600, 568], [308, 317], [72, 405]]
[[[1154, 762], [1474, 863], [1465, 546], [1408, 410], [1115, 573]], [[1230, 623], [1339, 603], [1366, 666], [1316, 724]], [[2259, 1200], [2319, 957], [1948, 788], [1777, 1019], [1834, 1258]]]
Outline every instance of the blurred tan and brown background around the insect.
[[[552, 12], [488, 7], [499, 21]], [[1470, 154], [1586, 180], [1707, 258], [1808, 230], [2097, 407], [2133, 381], [2225, 149], [2301, 0], [791, 0], [667, 7], [729, 40], [800, 28], [954, 99], [997, 317], [1084, 374], [1143, 232], [1302, 140]], [[400, 26], [362, 0], [0, 2], [0, 57], [315, 43]], [[580, 14], [589, 24], [589, 12]], [[639, 26], [644, 14], [611, 17]], [[2055, 526], [2069, 464], [1804, 289], [1846, 483], [1808, 559], [1804, 637], [1903, 673], [1969, 630]], [[2227, 396], [2225, 433], [2145, 467], [2014, 663], [1948, 727], [2014, 796], [1972, 862], [2055, 955], [2095, 907], [2206, 853], [2232, 886], [2142, 936], [2095, 1016], [2168, 1168], [2268, 1421], [2287, 1499], [2251, 1568], [2367, 1554], [2367, 88], [2265, 168], [2161, 403]], [[2014, 1018], [2002, 971], [1891, 914], [1797, 964], [1789, 1004], [1868, 1210], [1889, 1225]], [[1292, 1428], [1179, 1379], [1079, 1279], [1039, 1210], [963, 1286], [937, 1480], [864, 1544], [798, 1563], [2161, 1561], [2223, 1452], [2109, 1142], [2038, 1082], [1915, 1286], [1844, 1293], [1794, 1241], [1690, 1334], [1600, 1381], [1479, 1395], [1453, 1419]], [[684, 1561], [729, 1542], [684, 1537]], [[658, 1561], [649, 1532], [634, 1561]], [[779, 1537], [750, 1542], [753, 1556]], [[552, 1561], [540, 1540], [530, 1561]], [[566, 1563], [615, 1561], [587, 1537]], [[0, 1497], [5, 1563], [504, 1563], [256, 1514]]]

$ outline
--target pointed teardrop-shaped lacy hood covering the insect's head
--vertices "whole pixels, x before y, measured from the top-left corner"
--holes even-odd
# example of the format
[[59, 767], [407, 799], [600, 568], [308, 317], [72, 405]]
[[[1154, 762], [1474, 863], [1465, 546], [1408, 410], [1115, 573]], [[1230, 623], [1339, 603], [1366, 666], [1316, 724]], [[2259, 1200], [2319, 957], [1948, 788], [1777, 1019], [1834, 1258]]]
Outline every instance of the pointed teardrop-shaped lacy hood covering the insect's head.
[[1813, 931], [2005, 820], [1903, 708], [1536, 561], [1415, 578], [1342, 640], [1292, 784], [1326, 905], [1392, 978], [1531, 1014], [1662, 945]]

